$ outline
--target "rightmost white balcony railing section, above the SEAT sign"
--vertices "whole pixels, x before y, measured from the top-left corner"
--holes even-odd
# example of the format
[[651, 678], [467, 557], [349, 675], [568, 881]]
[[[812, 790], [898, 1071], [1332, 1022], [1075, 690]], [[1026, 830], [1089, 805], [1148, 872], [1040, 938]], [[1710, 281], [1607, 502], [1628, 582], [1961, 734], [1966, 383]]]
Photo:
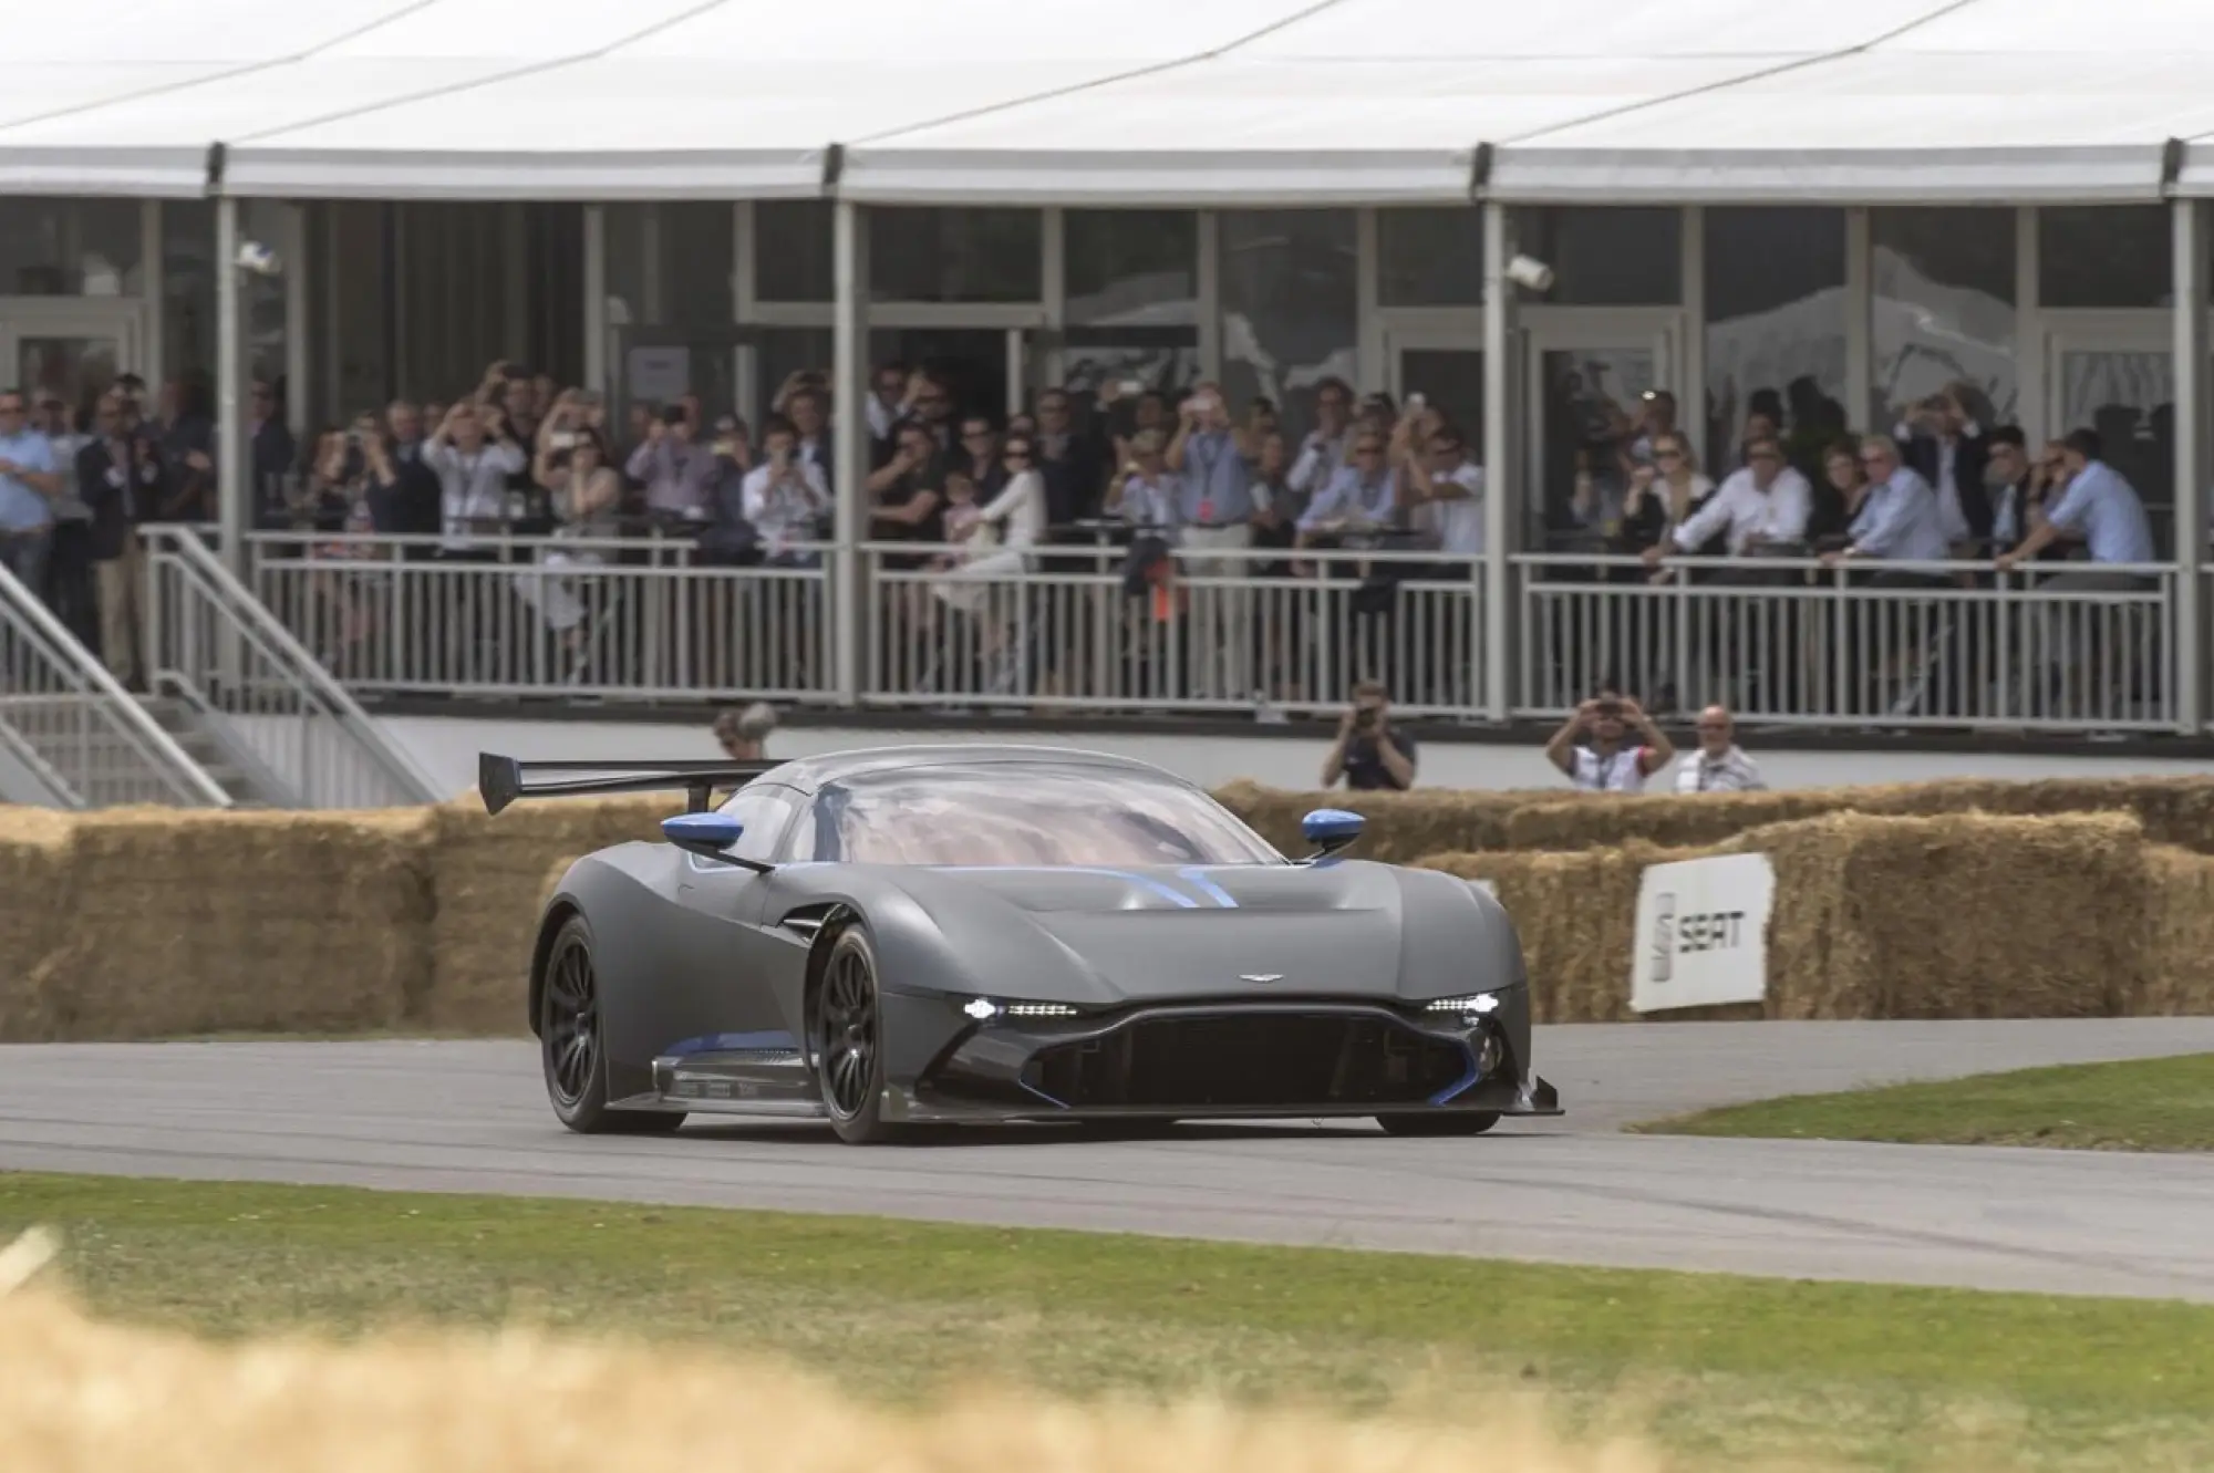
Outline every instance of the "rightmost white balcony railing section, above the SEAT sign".
[[1523, 555], [1517, 712], [1601, 686], [1855, 728], [2176, 730], [2172, 566]]

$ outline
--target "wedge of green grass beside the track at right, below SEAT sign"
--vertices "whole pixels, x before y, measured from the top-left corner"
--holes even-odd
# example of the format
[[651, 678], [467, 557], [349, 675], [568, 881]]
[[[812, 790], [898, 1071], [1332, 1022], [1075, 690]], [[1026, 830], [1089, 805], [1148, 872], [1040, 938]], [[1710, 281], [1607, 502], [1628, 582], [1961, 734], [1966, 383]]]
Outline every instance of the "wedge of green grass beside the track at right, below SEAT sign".
[[2214, 1150], [2214, 1053], [1791, 1095], [1649, 1121], [1636, 1130], [1917, 1146]]

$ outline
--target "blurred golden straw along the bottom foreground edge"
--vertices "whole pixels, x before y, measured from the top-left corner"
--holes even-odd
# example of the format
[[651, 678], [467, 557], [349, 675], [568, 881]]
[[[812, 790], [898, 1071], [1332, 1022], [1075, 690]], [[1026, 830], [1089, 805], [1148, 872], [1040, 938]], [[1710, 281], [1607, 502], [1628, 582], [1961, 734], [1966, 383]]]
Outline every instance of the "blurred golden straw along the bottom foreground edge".
[[[1333, 1415], [1224, 1398], [1056, 1400], [974, 1385], [901, 1407], [706, 1345], [507, 1327], [193, 1338], [0, 1296], [9, 1473], [1658, 1473], [1630, 1431], [1514, 1385], [1450, 1415]], [[1472, 1398], [1470, 1389], [1481, 1391]], [[1413, 1400], [1413, 1398], [1410, 1398]], [[1630, 1411], [1625, 1404], [1623, 1411]], [[1630, 1418], [1636, 1418], [1630, 1411]], [[1625, 1418], [1618, 1427], [1634, 1429]], [[1612, 1431], [1612, 1435], [1610, 1435]]]

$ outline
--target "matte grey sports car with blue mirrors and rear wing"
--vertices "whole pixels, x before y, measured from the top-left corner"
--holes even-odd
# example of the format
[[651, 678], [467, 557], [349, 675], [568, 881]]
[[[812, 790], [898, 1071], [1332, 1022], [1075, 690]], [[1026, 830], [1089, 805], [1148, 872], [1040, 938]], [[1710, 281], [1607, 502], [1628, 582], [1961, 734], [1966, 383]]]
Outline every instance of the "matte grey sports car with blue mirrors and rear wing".
[[666, 843], [571, 865], [538, 924], [529, 1024], [571, 1130], [766, 1115], [868, 1143], [919, 1124], [1375, 1117], [1475, 1135], [1561, 1112], [1530, 1068], [1506, 911], [1450, 874], [1342, 858], [1359, 814], [1308, 814], [1315, 854], [1293, 860], [1169, 772], [1014, 745], [478, 770], [494, 814], [691, 794]]

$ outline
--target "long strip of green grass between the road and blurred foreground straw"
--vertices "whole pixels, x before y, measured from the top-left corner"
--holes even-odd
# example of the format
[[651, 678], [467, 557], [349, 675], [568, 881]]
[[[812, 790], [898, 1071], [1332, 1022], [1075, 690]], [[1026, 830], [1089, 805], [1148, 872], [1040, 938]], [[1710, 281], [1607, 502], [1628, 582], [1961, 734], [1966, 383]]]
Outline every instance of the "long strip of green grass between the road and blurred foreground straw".
[[230, 1336], [507, 1318], [959, 1376], [1472, 1415], [1687, 1458], [2214, 1464], [2214, 1307], [334, 1188], [0, 1174], [95, 1312]]

